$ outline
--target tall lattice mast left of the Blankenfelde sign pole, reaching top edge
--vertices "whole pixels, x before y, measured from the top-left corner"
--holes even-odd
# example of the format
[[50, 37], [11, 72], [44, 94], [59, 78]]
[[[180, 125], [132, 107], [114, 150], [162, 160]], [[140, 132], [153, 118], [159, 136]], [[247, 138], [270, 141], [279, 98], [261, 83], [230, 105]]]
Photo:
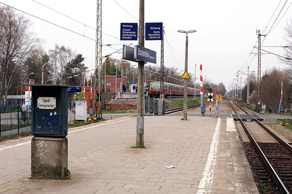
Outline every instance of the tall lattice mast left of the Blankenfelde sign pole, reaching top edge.
[[102, 69], [102, 0], [96, 3], [96, 50], [94, 72], [94, 115], [102, 118], [102, 83], [100, 79]]

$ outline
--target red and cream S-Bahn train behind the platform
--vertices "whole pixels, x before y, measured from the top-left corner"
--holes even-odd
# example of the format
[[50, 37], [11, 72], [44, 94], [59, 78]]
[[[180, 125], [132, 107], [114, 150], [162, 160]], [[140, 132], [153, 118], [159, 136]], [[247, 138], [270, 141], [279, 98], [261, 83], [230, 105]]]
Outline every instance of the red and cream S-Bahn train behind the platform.
[[[164, 83], [164, 95], [166, 97], [171, 96], [183, 96], [184, 87], [176, 85], [173, 83]], [[160, 92], [160, 82], [151, 82], [150, 83], [150, 97], [159, 98]], [[200, 90], [188, 87], [187, 95], [188, 96], [200, 96]]]

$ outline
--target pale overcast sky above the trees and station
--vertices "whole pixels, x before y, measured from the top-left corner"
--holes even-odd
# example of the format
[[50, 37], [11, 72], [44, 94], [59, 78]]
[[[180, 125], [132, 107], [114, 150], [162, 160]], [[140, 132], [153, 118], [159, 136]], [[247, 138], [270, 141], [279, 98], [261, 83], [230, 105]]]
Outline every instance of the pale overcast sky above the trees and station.
[[[54, 45], [64, 45], [85, 57], [85, 65], [94, 69], [95, 60], [95, 26], [96, 1], [93, 0], [36, 0], [58, 12], [65, 14], [83, 24], [58, 14], [33, 0], [1, 0], [0, 2], [13, 6], [26, 13], [42, 18], [48, 22], [62, 26], [76, 33], [54, 26], [38, 18], [26, 15], [34, 22], [33, 31], [39, 38], [46, 41], [43, 45], [48, 51]], [[202, 64], [203, 75], [214, 83], [223, 82], [226, 89], [242, 66], [246, 66], [248, 59], [250, 71], [257, 71], [257, 56], [250, 55], [257, 42], [256, 30], [263, 34], [273, 27], [266, 38], [262, 37], [262, 46], [283, 45], [283, 27], [292, 17], [292, 0], [257, 0], [257, 1], [161, 1], [145, 0], [145, 22], [163, 22], [165, 28], [164, 62], [167, 67], [184, 69], [185, 34], [177, 30], [197, 30], [188, 34], [188, 72], [194, 73], [194, 64]], [[286, 5], [284, 6], [284, 4]], [[119, 6], [119, 5], [120, 6]], [[127, 13], [123, 8], [128, 11]], [[277, 8], [278, 6], [278, 8]], [[284, 8], [283, 8], [284, 6]], [[277, 8], [277, 9], [276, 9]], [[282, 9], [283, 8], [283, 9]], [[282, 9], [282, 12], [280, 13]], [[288, 9], [288, 10], [287, 10]], [[275, 13], [274, 13], [275, 12]], [[286, 14], [284, 14], [286, 12]], [[274, 13], [274, 15], [273, 15]], [[278, 16], [278, 14], [280, 15]], [[131, 16], [131, 15], [132, 16]], [[272, 17], [273, 15], [273, 17]], [[278, 16], [278, 19], [276, 20]], [[123, 43], [138, 44], [138, 41], [120, 41], [120, 23], [138, 22], [138, 0], [103, 0], [102, 1], [102, 43], [121, 44], [102, 47], [102, 55], [113, 53], [122, 48]], [[270, 22], [269, 22], [270, 21]], [[92, 28], [90, 28], [92, 27]], [[106, 34], [109, 35], [106, 35]], [[83, 36], [87, 36], [86, 38]], [[113, 37], [115, 38], [113, 38]], [[160, 66], [160, 41], [145, 41], [145, 47], [157, 52], [157, 64]], [[173, 48], [171, 48], [172, 46]], [[256, 44], [257, 46], [257, 44]], [[170, 50], [171, 49], [171, 50]], [[270, 52], [282, 54], [278, 47], [262, 48]], [[256, 50], [254, 50], [256, 51]], [[250, 57], [249, 57], [250, 56]], [[112, 55], [120, 59], [121, 53]], [[251, 60], [254, 57], [254, 60]], [[133, 64], [137, 64], [132, 62]], [[272, 66], [284, 67], [277, 57], [271, 54], [262, 55], [262, 72]], [[138, 64], [137, 64], [138, 65]], [[247, 71], [247, 67], [242, 68]], [[240, 76], [239, 76], [240, 78]], [[242, 75], [242, 79], [246, 79]]]

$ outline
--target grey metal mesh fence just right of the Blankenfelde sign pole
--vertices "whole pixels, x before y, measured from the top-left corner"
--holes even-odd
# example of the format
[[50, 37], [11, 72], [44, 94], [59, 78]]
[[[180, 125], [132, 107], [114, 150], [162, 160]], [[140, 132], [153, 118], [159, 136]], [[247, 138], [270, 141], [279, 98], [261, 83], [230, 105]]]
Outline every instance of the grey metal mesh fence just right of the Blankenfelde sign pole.
[[144, 115], [165, 115], [165, 102], [150, 96], [144, 97]]

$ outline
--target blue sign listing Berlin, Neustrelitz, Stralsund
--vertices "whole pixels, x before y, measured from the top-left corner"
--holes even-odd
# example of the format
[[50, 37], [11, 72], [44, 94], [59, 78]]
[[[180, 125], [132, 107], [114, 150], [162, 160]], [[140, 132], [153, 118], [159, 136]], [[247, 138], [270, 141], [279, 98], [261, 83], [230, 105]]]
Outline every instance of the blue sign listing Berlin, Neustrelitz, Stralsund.
[[145, 40], [162, 40], [163, 23], [146, 23], [145, 24]]

